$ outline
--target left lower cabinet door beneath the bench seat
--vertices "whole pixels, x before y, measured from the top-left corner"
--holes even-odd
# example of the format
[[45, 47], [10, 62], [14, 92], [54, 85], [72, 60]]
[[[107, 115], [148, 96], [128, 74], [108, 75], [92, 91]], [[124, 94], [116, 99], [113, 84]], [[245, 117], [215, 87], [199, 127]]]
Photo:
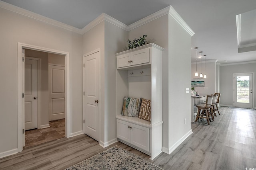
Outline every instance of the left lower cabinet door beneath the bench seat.
[[131, 142], [131, 130], [130, 130], [131, 123], [126, 121], [118, 120], [116, 121], [116, 137], [122, 139], [126, 142]]

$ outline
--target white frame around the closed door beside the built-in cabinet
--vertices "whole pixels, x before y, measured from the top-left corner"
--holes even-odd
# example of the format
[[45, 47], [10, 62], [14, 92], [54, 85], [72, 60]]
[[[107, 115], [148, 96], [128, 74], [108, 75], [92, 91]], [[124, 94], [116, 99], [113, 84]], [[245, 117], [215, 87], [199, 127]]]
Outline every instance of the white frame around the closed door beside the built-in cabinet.
[[[83, 92], [85, 92], [85, 80], [84, 80], [84, 72], [85, 72], [85, 67], [84, 67], [84, 63], [85, 63], [85, 57], [86, 56], [89, 56], [89, 55], [92, 55], [92, 54], [94, 54], [94, 53], [99, 53], [99, 55], [100, 55], [100, 48], [98, 48], [98, 49], [96, 49], [96, 50], [94, 50], [94, 51], [91, 51], [91, 52], [89, 52], [89, 53], [86, 53], [86, 54], [84, 54], [83, 55], [83, 66], [82, 66], [82, 68], [83, 68], [83, 74], [82, 74], [82, 76], [83, 76]], [[99, 61], [100, 62], [100, 61]], [[100, 63], [99, 63], [99, 69], [100, 69]], [[99, 73], [100, 73], [100, 76], [98, 77], [98, 82], [99, 82], [99, 91], [98, 91], [98, 94], [99, 94], [99, 99], [100, 99], [100, 102], [98, 103], [98, 121], [99, 121], [99, 123], [98, 123], [98, 129], [99, 129], [99, 134], [98, 134], [98, 139], [99, 139], [99, 141], [98, 141], [98, 143], [100, 143], [100, 136], [101, 136], [101, 123], [100, 123], [100, 117], [101, 117], [101, 94], [100, 94], [100, 86], [101, 86], [101, 69], [99, 70]], [[85, 102], [85, 96], [83, 95], [83, 120], [85, 119], [85, 108], [84, 108], [84, 102]], [[84, 133], [84, 131], [85, 131], [85, 123], [83, 122], [83, 133]], [[85, 133], [84, 133], [85, 134]]]

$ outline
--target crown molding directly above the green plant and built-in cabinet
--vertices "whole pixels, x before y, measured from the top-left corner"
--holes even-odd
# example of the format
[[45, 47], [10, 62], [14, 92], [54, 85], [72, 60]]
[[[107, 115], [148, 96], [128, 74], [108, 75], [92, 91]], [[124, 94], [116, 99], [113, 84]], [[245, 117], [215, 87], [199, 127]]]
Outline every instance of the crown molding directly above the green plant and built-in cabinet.
[[154, 14], [151, 14], [145, 18], [142, 18], [141, 20], [138, 20], [130, 25], [128, 25], [128, 31], [132, 30], [132, 29], [135, 29], [141, 25], [144, 25], [145, 23], [148, 23], [152, 20], [156, 20], [157, 18], [160, 18], [161, 16], [164, 16], [166, 14], [169, 13], [169, 10], [170, 10], [170, 6], [158, 11], [158, 12], [155, 12]]

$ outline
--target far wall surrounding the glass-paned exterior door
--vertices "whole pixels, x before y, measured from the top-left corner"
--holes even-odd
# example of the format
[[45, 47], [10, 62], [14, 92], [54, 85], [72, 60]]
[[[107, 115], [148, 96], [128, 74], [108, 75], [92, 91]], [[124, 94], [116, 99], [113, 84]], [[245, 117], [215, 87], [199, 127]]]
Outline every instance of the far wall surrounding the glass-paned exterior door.
[[[233, 88], [233, 73], [254, 72], [256, 73], [256, 63], [220, 65], [220, 105], [233, 106], [232, 88]], [[255, 76], [255, 74], [254, 74]], [[254, 89], [256, 89], [256, 81], [254, 79]], [[256, 93], [254, 92], [256, 99]], [[254, 101], [254, 107], [256, 101]]]

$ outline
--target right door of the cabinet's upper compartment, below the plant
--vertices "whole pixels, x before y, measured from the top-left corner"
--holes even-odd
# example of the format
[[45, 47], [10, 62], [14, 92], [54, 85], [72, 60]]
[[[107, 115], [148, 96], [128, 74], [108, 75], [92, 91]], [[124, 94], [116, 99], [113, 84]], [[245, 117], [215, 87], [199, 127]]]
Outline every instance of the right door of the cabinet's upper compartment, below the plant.
[[149, 63], [149, 48], [141, 49], [131, 53], [131, 64]]

